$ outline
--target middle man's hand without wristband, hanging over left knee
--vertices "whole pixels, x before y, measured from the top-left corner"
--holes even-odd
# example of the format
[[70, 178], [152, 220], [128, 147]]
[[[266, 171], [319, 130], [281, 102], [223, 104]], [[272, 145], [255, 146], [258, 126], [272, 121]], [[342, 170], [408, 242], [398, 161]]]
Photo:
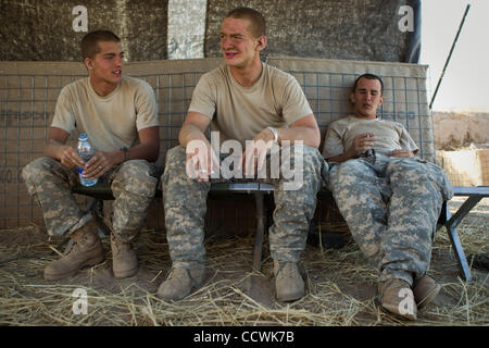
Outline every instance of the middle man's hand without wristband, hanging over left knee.
[[220, 167], [220, 161], [209, 141], [196, 139], [187, 144], [186, 172], [190, 178], [209, 182], [209, 177]]

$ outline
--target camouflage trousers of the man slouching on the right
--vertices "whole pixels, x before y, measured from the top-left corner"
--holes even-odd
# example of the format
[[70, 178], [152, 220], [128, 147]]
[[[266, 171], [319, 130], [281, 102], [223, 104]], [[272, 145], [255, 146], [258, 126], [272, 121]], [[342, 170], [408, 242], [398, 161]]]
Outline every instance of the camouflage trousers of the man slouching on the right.
[[453, 188], [429, 162], [376, 154], [331, 163], [328, 188], [379, 282], [427, 272], [443, 200]]

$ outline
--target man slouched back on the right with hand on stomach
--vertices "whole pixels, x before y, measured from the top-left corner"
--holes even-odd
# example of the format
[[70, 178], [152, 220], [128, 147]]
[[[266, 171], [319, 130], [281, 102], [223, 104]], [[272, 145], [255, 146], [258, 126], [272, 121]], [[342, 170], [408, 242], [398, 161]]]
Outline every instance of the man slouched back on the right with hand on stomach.
[[330, 165], [328, 188], [378, 268], [377, 301], [416, 320], [417, 309], [440, 289], [426, 272], [441, 204], [453, 189], [440, 167], [415, 156], [418, 148], [402, 124], [377, 117], [383, 88], [372, 74], [355, 80], [354, 115], [329, 125], [323, 156]]

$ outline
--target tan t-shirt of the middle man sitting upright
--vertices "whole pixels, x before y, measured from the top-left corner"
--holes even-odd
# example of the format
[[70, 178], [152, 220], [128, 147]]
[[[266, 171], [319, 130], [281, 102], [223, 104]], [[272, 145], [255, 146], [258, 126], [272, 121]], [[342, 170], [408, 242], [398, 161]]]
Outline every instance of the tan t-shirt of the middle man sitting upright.
[[235, 139], [242, 147], [267, 126], [287, 127], [312, 113], [297, 79], [267, 64], [251, 87], [239, 85], [227, 65], [202, 75], [189, 111], [209, 116], [221, 142]]

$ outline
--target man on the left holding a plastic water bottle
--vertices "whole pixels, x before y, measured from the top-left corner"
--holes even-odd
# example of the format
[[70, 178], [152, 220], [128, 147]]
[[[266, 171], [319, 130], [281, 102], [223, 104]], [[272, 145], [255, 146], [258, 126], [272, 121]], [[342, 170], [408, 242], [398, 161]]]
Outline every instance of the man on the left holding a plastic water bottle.
[[[28, 192], [40, 203], [47, 231], [70, 236], [74, 245], [45, 269], [49, 281], [76, 274], [104, 259], [98, 227], [90, 212], [78, 207], [72, 188], [78, 170], [89, 178], [108, 181], [115, 197], [111, 249], [115, 277], [136, 274], [131, 241], [145, 223], [161, 170], [159, 122], [154, 92], [147, 83], [122, 76], [121, 40], [98, 30], [82, 40], [88, 77], [65, 86], [58, 98], [43, 158], [23, 170]], [[84, 163], [76, 148], [66, 145], [74, 130], [88, 134], [96, 150]]]

